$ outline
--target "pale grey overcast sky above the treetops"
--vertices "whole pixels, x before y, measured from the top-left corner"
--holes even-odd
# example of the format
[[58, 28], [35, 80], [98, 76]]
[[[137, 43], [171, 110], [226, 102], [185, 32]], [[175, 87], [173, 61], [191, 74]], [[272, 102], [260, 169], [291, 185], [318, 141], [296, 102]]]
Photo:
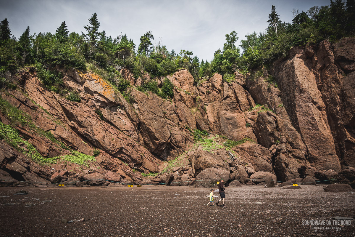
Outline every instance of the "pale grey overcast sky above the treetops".
[[292, 9], [307, 11], [329, 5], [330, 0], [0, 0], [0, 19], [7, 18], [17, 38], [27, 26], [30, 33], [51, 32], [65, 21], [70, 32], [80, 33], [88, 18], [97, 12], [100, 31], [116, 37], [127, 34], [136, 44], [147, 31], [154, 41], [162, 38], [168, 50], [190, 50], [210, 61], [223, 48], [225, 34], [236, 31], [240, 39], [268, 26], [268, 14], [275, 5], [280, 20], [291, 22]]

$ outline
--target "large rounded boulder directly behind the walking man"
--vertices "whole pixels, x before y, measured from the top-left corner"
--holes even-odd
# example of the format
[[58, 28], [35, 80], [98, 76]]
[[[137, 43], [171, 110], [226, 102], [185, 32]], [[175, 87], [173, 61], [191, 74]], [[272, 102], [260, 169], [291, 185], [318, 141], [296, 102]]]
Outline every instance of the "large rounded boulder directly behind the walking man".
[[222, 168], [207, 168], [201, 171], [196, 176], [196, 182], [201, 184], [203, 187], [215, 187], [217, 185], [217, 182], [220, 181], [222, 178], [225, 182], [228, 181], [228, 170]]

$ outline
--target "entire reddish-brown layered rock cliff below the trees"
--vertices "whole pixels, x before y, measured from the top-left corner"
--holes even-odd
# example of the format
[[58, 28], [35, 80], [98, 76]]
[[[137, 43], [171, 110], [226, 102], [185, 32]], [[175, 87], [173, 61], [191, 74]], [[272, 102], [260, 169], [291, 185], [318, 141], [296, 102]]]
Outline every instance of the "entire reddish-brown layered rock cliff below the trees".
[[[191, 185], [195, 179], [214, 182], [223, 176], [248, 184], [255, 177], [262, 180], [257, 183], [272, 177], [275, 181], [304, 179], [303, 183], [339, 178], [353, 184], [354, 172], [349, 167], [355, 166], [354, 45], [355, 38], [346, 38], [335, 44], [323, 41], [317, 46], [294, 47], [269, 71], [262, 69], [261, 76], [235, 73], [235, 81], [229, 83], [215, 73], [196, 85], [190, 72], [182, 69], [167, 76], [174, 85], [171, 100], [135, 87], [143, 80], [157, 80], [161, 85], [165, 78], [151, 79], [145, 74], [135, 79], [127, 69], [120, 73], [131, 83], [127, 88], [130, 102], [90, 71], [58, 68], [65, 89], [80, 96], [80, 102], [73, 102], [49, 91], [34, 68], [22, 70], [14, 77], [26, 93], [8, 90], [1, 97], [69, 149], [86, 155], [99, 149], [96, 162], [103, 170], [49, 172], [1, 140], [0, 176], [10, 181], [76, 185], [107, 185], [99, 179], [140, 184], [148, 180], [141, 173], [165, 171], [169, 168], [165, 161], [186, 154], [175, 171], [168, 169], [174, 174], [159, 174], [157, 180], [145, 182]], [[266, 79], [270, 78], [278, 86], [269, 84]], [[10, 124], [6, 114], [0, 114], [0, 121]], [[69, 152], [26, 127], [17, 129], [44, 157]], [[218, 147], [191, 149], [196, 143], [194, 129], [218, 134], [213, 138]], [[226, 149], [226, 139], [246, 142]], [[191, 170], [182, 170], [183, 166]], [[100, 178], [80, 182], [84, 176]]]

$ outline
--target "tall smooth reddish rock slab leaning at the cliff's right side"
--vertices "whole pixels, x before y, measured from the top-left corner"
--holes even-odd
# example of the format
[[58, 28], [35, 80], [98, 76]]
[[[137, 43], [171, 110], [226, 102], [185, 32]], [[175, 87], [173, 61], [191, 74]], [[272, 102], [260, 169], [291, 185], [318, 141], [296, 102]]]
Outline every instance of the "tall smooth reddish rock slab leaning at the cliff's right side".
[[[340, 163], [329, 128], [326, 106], [318, 90], [316, 76], [308, 68], [311, 62], [307, 61], [304, 50], [294, 48], [290, 53], [293, 57], [278, 65], [274, 75], [291, 123], [307, 147], [308, 166], [339, 172]], [[289, 71], [294, 73], [290, 75]], [[286, 77], [287, 80], [281, 80]]]

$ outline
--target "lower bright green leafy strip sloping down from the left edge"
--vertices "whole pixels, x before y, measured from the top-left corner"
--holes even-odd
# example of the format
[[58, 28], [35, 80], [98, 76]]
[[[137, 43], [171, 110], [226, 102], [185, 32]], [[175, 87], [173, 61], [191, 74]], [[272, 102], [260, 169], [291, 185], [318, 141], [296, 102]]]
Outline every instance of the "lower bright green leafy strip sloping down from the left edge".
[[[5, 140], [8, 144], [21, 151], [25, 156], [31, 158], [34, 162], [42, 165], [45, 163], [55, 164], [58, 157], [44, 158], [35, 147], [24, 140], [18, 131], [12, 128], [11, 125], [6, 125], [0, 122], [0, 140]], [[27, 147], [26, 147], [27, 146]]]

